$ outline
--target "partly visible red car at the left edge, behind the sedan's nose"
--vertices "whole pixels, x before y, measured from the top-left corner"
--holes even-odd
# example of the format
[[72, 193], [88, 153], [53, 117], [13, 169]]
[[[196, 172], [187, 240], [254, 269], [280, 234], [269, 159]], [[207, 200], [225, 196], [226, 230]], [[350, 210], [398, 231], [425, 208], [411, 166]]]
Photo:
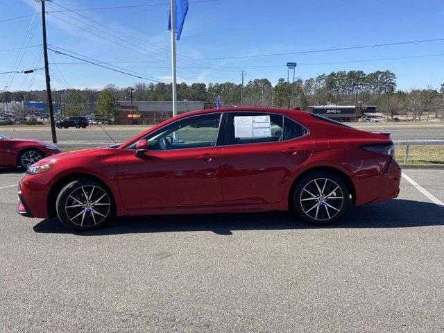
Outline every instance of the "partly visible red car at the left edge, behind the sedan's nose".
[[58, 146], [32, 139], [8, 139], [0, 135], [0, 167], [26, 169], [44, 157], [60, 153]]

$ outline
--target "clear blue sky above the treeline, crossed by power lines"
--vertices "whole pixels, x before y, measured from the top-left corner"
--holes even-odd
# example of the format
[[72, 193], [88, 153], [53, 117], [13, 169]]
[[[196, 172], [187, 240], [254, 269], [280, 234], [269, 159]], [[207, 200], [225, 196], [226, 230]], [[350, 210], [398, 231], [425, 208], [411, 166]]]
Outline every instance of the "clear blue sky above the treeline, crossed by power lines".
[[[55, 12], [47, 15], [47, 31], [48, 42], [53, 47], [64, 48], [103, 62], [136, 62], [117, 66], [153, 77], [155, 80], [171, 80], [167, 30], [168, 0], [53, 0], [53, 3], [46, 3], [47, 11], [62, 10], [63, 8], [58, 5], [79, 9], [165, 4], [165, 6], [78, 12], [100, 22], [106, 28], [97, 26], [72, 12]], [[34, 0], [0, 0], [0, 21], [21, 15], [32, 15], [36, 5]], [[444, 38], [442, 5], [442, 1], [438, 0], [219, 0], [190, 3], [182, 38], [177, 43], [178, 59], [255, 56], [440, 39]], [[34, 28], [35, 33], [29, 45], [40, 44], [42, 42], [40, 15], [35, 17], [31, 30], [26, 34], [31, 19], [32, 16], [29, 16], [0, 22], [2, 31], [0, 50], [17, 48], [23, 40], [26, 45]], [[91, 25], [102, 31], [96, 30]], [[125, 35], [119, 35], [114, 31]], [[146, 44], [138, 42], [139, 40]], [[0, 51], [0, 72], [12, 69], [18, 52], [19, 50]], [[41, 52], [40, 46], [26, 49], [18, 69], [33, 68]], [[287, 77], [285, 63], [292, 61], [298, 62], [296, 76], [302, 79], [330, 71], [362, 69], [370, 72], [389, 69], [398, 78], [398, 89], [425, 88], [427, 85], [437, 88], [444, 82], [444, 56], [309, 65], [319, 62], [434, 54], [444, 54], [444, 41], [287, 56], [178, 61], [178, 82], [216, 83], [230, 80], [240, 83], [240, 70], [244, 68], [247, 72], [247, 81], [268, 78], [272, 83], [276, 83], [279, 78]], [[21, 58], [22, 56], [19, 60]], [[63, 87], [101, 89], [109, 83], [126, 87], [139, 81], [150, 82], [92, 65], [79, 65], [78, 60], [59, 54], [52, 53], [49, 61], [58, 63], [57, 66], [51, 65], [55, 74], [51, 79], [54, 89]], [[41, 66], [42, 62], [37, 65]], [[6, 85], [8, 77], [0, 75], [1, 89]], [[32, 74], [17, 74], [12, 83], [9, 83], [9, 89], [29, 87], [44, 89], [43, 71], [37, 72], [32, 85], [31, 79]]]

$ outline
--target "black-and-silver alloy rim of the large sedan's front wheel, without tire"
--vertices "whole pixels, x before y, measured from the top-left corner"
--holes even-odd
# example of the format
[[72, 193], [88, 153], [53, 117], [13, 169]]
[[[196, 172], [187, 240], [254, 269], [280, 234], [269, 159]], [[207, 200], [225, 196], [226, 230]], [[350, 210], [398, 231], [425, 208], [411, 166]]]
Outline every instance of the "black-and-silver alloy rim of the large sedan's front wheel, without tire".
[[93, 227], [106, 219], [111, 210], [108, 194], [96, 185], [74, 189], [65, 202], [69, 220], [80, 227]]

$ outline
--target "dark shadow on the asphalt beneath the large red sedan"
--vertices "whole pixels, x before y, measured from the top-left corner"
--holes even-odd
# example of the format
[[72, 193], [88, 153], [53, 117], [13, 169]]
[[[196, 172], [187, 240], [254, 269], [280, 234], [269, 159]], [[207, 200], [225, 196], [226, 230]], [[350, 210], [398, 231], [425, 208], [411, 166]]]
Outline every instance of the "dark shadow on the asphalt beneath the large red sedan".
[[[290, 212], [242, 214], [192, 214], [122, 217], [107, 228], [79, 232], [83, 236], [140, 232], [212, 231], [230, 235], [235, 230], [285, 230], [303, 228], [407, 228], [444, 225], [444, 207], [413, 200], [389, 200], [383, 203], [350, 207], [344, 218], [331, 226], [314, 227]], [[70, 232], [58, 219], [46, 219], [34, 226], [35, 232]]]

